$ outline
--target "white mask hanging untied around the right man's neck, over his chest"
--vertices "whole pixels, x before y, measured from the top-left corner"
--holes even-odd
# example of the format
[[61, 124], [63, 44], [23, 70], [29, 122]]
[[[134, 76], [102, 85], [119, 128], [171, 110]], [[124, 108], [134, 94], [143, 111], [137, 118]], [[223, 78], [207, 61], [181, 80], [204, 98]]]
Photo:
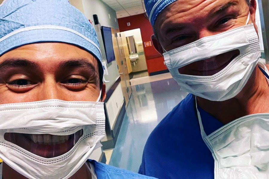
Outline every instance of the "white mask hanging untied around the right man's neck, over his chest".
[[269, 178], [269, 113], [244, 116], [206, 135], [197, 103], [196, 110], [202, 138], [215, 160], [215, 179]]

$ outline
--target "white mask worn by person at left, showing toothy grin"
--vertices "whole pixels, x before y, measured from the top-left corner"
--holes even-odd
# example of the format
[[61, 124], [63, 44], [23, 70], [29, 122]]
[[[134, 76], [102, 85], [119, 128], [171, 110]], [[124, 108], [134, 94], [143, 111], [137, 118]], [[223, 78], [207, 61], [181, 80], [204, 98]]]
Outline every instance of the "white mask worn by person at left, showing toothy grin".
[[[21, 137], [25, 137], [23, 143], [30, 145], [20, 147], [10, 142], [11, 139], [6, 140], [18, 133], [27, 134]], [[39, 136], [42, 136], [40, 134], [44, 136], [42, 144], [50, 142], [49, 147], [47, 145], [49, 149], [52, 147], [51, 142], [59, 142], [59, 136], [66, 137], [64, 143], [59, 142], [60, 144], [56, 145], [58, 151], [52, 149], [52, 153], [59, 152], [59, 148], [61, 149], [59, 146], [66, 149], [66, 146], [72, 144], [70, 141], [74, 142], [71, 145], [73, 147], [64, 154], [52, 158], [33, 154], [29, 151], [42, 153], [42, 150], [33, 148], [37, 146], [37, 140], [40, 142]], [[48, 134], [53, 135], [52, 141], [45, 141], [45, 135], [49, 136]], [[87, 161], [93, 150], [100, 147], [104, 135], [103, 102], [45, 100], [0, 105], [0, 158], [29, 179], [71, 177]], [[33, 139], [33, 136], [38, 136], [38, 139]], [[54, 137], [58, 138], [58, 141], [55, 141]], [[77, 139], [74, 139], [76, 137]], [[27, 147], [30, 148], [25, 149]]]

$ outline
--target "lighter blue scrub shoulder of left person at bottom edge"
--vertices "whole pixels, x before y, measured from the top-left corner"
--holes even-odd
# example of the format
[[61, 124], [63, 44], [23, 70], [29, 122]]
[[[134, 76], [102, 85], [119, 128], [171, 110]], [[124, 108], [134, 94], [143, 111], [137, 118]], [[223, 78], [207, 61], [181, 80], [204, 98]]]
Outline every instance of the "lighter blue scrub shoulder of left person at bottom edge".
[[97, 175], [97, 179], [156, 179], [133, 173], [125, 169], [119, 169], [104, 163], [99, 163], [94, 160], [88, 160], [88, 162], [94, 165], [94, 171]]

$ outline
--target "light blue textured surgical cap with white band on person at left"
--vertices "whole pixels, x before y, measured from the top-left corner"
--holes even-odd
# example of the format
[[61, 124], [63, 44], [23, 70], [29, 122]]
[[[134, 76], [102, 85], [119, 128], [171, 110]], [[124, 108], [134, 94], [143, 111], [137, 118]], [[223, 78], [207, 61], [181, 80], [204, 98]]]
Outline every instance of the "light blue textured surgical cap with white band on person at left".
[[64, 42], [87, 50], [97, 58], [103, 77], [96, 32], [68, 0], [5, 0], [0, 5], [0, 56], [37, 42]]

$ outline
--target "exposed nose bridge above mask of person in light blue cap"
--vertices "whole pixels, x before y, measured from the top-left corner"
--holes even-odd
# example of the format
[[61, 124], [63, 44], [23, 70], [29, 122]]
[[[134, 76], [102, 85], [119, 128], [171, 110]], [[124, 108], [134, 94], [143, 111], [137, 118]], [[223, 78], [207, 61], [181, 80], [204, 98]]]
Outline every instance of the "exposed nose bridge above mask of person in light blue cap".
[[48, 99], [60, 99], [65, 100], [63, 93], [59, 85], [54, 80], [44, 81], [40, 89], [42, 93], [39, 95], [39, 101]]

